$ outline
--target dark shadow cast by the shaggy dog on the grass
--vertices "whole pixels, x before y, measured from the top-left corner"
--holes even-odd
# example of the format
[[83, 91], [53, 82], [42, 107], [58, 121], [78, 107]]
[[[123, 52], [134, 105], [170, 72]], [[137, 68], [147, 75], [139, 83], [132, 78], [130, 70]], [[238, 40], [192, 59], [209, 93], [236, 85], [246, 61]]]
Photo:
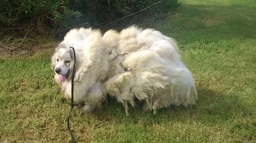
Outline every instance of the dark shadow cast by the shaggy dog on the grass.
[[199, 88], [197, 105], [189, 108], [182, 106], [171, 106], [153, 112], [144, 112], [142, 103], [137, 102], [137, 106], [130, 107], [130, 115], [125, 115], [122, 104], [115, 99], [109, 98], [108, 105], [102, 109], [96, 109], [92, 114], [102, 122], [119, 122], [127, 124], [143, 124], [151, 126], [153, 124], [166, 123], [224, 123], [236, 118], [236, 116], [252, 115], [253, 112], [239, 100], [238, 95], [227, 95], [217, 93], [213, 90]]

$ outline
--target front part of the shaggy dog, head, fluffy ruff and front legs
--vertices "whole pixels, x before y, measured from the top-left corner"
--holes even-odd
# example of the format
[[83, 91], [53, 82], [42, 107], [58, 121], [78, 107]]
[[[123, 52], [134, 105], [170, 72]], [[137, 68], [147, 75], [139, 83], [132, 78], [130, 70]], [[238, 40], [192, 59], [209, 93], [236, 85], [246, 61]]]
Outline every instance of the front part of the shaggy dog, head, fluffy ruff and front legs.
[[73, 47], [76, 52], [74, 102], [84, 104], [82, 109], [91, 112], [106, 101], [103, 83], [108, 72], [105, 42], [99, 30], [79, 28], [70, 30], [52, 56], [55, 81], [59, 82], [66, 98], [71, 98]]

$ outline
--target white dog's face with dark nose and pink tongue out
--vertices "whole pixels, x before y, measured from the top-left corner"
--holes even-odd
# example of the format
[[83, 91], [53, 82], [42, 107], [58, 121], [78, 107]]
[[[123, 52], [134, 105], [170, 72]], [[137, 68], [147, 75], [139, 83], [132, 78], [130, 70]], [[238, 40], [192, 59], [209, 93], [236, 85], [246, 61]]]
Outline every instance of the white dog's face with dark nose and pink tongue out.
[[69, 78], [73, 65], [73, 50], [63, 44], [58, 45], [52, 56], [52, 70], [58, 74], [61, 84]]

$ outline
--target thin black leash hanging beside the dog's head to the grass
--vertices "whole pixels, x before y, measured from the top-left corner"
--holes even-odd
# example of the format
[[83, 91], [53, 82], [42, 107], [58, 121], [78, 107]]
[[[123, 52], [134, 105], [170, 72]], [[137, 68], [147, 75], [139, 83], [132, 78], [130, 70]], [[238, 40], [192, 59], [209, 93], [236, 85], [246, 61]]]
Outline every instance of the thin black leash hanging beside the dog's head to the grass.
[[70, 111], [68, 113], [67, 116], [67, 129], [70, 132], [71, 138], [72, 138], [72, 142], [76, 143], [75, 137], [70, 129], [69, 126], [69, 119], [70, 119], [70, 114], [72, 112], [72, 109], [74, 108], [74, 78], [75, 78], [75, 67], [76, 67], [76, 53], [75, 53], [75, 49], [73, 47], [72, 48], [73, 52], [74, 52], [74, 66], [73, 66], [73, 70], [72, 70], [72, 79], [71, 79], [71, 107], [70, 107]]

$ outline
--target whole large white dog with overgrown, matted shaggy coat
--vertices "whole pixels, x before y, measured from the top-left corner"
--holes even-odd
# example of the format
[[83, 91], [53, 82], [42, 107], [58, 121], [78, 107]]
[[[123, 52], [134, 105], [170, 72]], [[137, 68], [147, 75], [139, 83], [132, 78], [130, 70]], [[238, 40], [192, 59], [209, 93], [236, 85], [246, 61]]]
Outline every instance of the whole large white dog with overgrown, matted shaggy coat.
[[154, 29], [131, 26], [104, 35], [92, 28], [70, 30], [52, 56], [55, 81], [66, 98], [71, 97], [71, 76], [76, 51], [74, 101], [92, 112], [106, 101], [117, 99], [129, 115], [134, 99], [144, 102], [144, 111], [195, 104], [197, 91], [189, 69], [180, 59], [174, 39]]

